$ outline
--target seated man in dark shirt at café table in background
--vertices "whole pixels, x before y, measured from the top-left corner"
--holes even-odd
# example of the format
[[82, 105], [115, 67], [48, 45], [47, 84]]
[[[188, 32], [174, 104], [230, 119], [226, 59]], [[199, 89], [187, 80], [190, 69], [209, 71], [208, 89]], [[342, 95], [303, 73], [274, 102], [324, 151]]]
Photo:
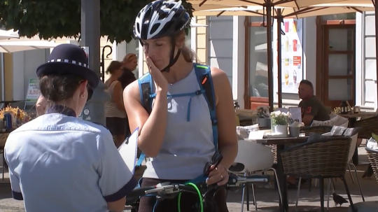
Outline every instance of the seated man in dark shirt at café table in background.
[[302, 99], [298, 106], [302, 108], [302, 122], [305, 126], [310, 126], [313, 120], [330, 120], [327, 108], [318, 97], [314, 96], [314, 87], [309, 80], [300, 81], [298, 94]]

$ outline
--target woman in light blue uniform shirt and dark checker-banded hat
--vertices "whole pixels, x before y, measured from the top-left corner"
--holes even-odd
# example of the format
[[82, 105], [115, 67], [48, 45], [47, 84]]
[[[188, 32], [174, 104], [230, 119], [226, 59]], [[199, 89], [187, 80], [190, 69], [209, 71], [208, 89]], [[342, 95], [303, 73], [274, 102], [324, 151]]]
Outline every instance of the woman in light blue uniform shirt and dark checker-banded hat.
[[44, 115], [6, 140], [14, 199], [26, 211], [123, 211], [137, 181], [108, 129], [78, 118], [99, 84], [82, 48], [61, 44], [38, 67]]

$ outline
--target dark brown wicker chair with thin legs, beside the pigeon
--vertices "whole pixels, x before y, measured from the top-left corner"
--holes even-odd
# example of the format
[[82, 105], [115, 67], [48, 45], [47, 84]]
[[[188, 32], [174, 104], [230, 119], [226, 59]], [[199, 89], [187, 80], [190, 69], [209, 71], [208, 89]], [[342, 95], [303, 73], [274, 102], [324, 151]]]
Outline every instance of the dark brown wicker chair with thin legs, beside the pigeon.
[[[351, 138], [330, 136], [318, 141], [309, 141], [283, 150], [281, 162], [283, 174], [301, 178], [318, 178], [320, 183], [321, 211], [324, 211], [324, 178], [341, 178], [344, 182], [351, 208], [353, 202], [344, 175], [348, 166]], [[330, 181], [328, 181], [329, 198]], [[297, 198], [299, 197], [300, 183]], [[297, 203], [295, 204], [295, 207]], [[329, 207], [329, 204], [327, 205]]]

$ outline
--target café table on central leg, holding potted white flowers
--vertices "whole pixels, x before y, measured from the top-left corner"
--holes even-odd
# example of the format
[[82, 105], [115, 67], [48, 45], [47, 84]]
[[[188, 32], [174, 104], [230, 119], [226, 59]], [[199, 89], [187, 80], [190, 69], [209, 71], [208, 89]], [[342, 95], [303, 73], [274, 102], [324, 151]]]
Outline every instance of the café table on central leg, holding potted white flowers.
[[279, 202], [279, 211], [288, 211], [288, 188], [286, 185], [286, 176], [283, 174], [283, 167], [281, 162], [281, 155], [279, 154], [285, 145], [299, 144], [306, 142], [308, 137], [296, 137], [296, 138], [269, 138], [269, 139], [253, 139], [248, 141], [255, 141], [255, 143], [261, 143], [263, 145], [276, 145], [277, 148], [277, 177], [279, 178], [279, 187], [281, 189], [282, 204]]

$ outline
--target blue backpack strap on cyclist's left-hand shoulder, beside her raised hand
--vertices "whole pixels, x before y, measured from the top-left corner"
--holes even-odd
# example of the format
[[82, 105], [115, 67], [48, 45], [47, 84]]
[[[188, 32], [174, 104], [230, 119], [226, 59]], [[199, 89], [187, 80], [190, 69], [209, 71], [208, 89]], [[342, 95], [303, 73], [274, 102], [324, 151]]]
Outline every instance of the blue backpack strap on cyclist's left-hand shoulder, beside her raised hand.
[[152, 98], [150, 97], [153, 94], [153, 79], [150, 73], [144, 74], [141, 78], [138, 79], [139, 84], [139, 94], [141, 96], [141, 104], [146, 109], [147, 113], [152, 111]]

